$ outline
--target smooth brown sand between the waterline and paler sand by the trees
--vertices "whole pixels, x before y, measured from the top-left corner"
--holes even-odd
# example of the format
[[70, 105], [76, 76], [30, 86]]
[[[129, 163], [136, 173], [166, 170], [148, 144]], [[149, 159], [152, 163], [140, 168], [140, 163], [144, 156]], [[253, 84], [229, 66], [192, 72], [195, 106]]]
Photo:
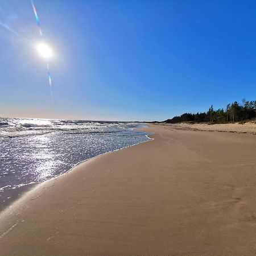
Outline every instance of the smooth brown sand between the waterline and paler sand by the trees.
[[256, 136], [151, 125], [1, 214], [1, 255], [255, 255]]

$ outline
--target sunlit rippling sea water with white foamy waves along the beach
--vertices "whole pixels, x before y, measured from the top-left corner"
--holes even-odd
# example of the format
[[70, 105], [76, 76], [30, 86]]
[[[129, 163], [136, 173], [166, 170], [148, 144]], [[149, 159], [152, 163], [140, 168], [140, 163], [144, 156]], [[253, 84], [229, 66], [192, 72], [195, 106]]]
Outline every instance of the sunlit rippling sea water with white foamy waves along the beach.
[[149, 141], [131, 122], [0, 118], [0, 210], [77, 163]]

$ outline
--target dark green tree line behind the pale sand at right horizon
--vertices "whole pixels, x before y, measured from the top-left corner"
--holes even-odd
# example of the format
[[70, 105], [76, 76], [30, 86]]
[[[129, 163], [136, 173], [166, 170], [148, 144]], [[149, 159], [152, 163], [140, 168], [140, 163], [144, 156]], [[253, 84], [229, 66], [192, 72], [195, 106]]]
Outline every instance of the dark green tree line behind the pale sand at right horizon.
[[207, 112], [197, 112], [196, 114], [184, 113], [179, 116], [167, 119], [166, 123], [180, 122], [209, 122], [209, 123], [228, 123], [256, 121], [256, 101], [242, 100], [242, 104], [234, 101], [228, 104], [226, 109], [214, 110], [213, 105]]

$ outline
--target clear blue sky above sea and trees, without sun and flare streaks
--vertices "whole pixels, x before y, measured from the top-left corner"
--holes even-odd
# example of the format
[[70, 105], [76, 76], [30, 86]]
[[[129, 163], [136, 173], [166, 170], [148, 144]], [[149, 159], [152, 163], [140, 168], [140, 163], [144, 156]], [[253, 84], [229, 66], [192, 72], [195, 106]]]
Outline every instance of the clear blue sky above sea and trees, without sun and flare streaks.
[[[256, 96], [255, 1], [2, 0], [0, 116], [162, 121]], [[24, 40], [26, 38], [26, 40]]]

